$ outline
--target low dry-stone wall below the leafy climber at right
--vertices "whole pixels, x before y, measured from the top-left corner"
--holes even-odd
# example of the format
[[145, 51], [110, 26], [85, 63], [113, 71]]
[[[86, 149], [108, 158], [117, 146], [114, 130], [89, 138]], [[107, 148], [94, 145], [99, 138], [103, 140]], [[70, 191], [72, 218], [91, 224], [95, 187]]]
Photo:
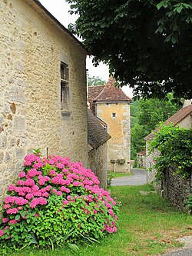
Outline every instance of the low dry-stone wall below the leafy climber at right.
[[164, 172], [162, 181], [164, 197], [177, 208], [186, 209], [187, 195], [192, 194], [192, 175], [184, 179], [174, 175], [174, 170], [170, 168]]

